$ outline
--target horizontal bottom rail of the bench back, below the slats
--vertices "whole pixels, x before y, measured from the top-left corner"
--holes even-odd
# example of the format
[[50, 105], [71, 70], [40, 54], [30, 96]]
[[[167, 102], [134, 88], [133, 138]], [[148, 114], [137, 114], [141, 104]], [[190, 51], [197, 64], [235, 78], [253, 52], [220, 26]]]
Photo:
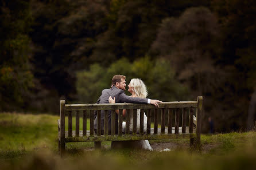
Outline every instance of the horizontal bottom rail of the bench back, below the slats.
[[83, 141], [125, 141], [125, 140], [156, 140], [156, 139], [189, 139], [195, 137], [195, 133], [181, 133], [169, 135], [108, 135], [108, 136], [84, 136], [84, 137], [68, 137], [66, 143], [83, 142]]

